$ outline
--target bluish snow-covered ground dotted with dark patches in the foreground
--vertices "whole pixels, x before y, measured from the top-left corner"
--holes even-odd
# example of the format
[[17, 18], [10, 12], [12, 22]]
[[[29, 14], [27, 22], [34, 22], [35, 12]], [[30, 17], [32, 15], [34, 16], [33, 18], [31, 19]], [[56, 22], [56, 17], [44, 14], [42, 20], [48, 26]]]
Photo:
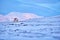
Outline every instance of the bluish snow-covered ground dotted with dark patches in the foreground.
[[0, 22], [0, 40], [60, 40], [60, 16]]

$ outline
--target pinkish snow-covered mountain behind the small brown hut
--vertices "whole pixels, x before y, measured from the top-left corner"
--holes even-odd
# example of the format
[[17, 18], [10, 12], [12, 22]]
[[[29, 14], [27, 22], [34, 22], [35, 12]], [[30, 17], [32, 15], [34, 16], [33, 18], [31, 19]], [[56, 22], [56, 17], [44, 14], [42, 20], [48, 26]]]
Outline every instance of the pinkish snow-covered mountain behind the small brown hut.
[[0, 22], [4, 22], [4, 21], [13, 21], [14, 18], [17, 18], [19, 21], [24, 21], [24, 20], [28, 20], [28, 19], [32, 19], [32, 18], [40, 18], [42, 16], [38, 16], [36, 14], [33, 13], [20, 13], [20, 12], [10, 12], [5, 16], [0, 15]]

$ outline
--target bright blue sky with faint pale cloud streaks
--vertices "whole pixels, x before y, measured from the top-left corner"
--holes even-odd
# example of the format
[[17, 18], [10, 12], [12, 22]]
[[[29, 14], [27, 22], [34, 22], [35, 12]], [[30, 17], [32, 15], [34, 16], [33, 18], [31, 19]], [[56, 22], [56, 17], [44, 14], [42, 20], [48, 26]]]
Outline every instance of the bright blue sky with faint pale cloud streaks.
[[0, 0], [0, 14], [34, 13], [40, 16], [60, 15], [60, 0]]

